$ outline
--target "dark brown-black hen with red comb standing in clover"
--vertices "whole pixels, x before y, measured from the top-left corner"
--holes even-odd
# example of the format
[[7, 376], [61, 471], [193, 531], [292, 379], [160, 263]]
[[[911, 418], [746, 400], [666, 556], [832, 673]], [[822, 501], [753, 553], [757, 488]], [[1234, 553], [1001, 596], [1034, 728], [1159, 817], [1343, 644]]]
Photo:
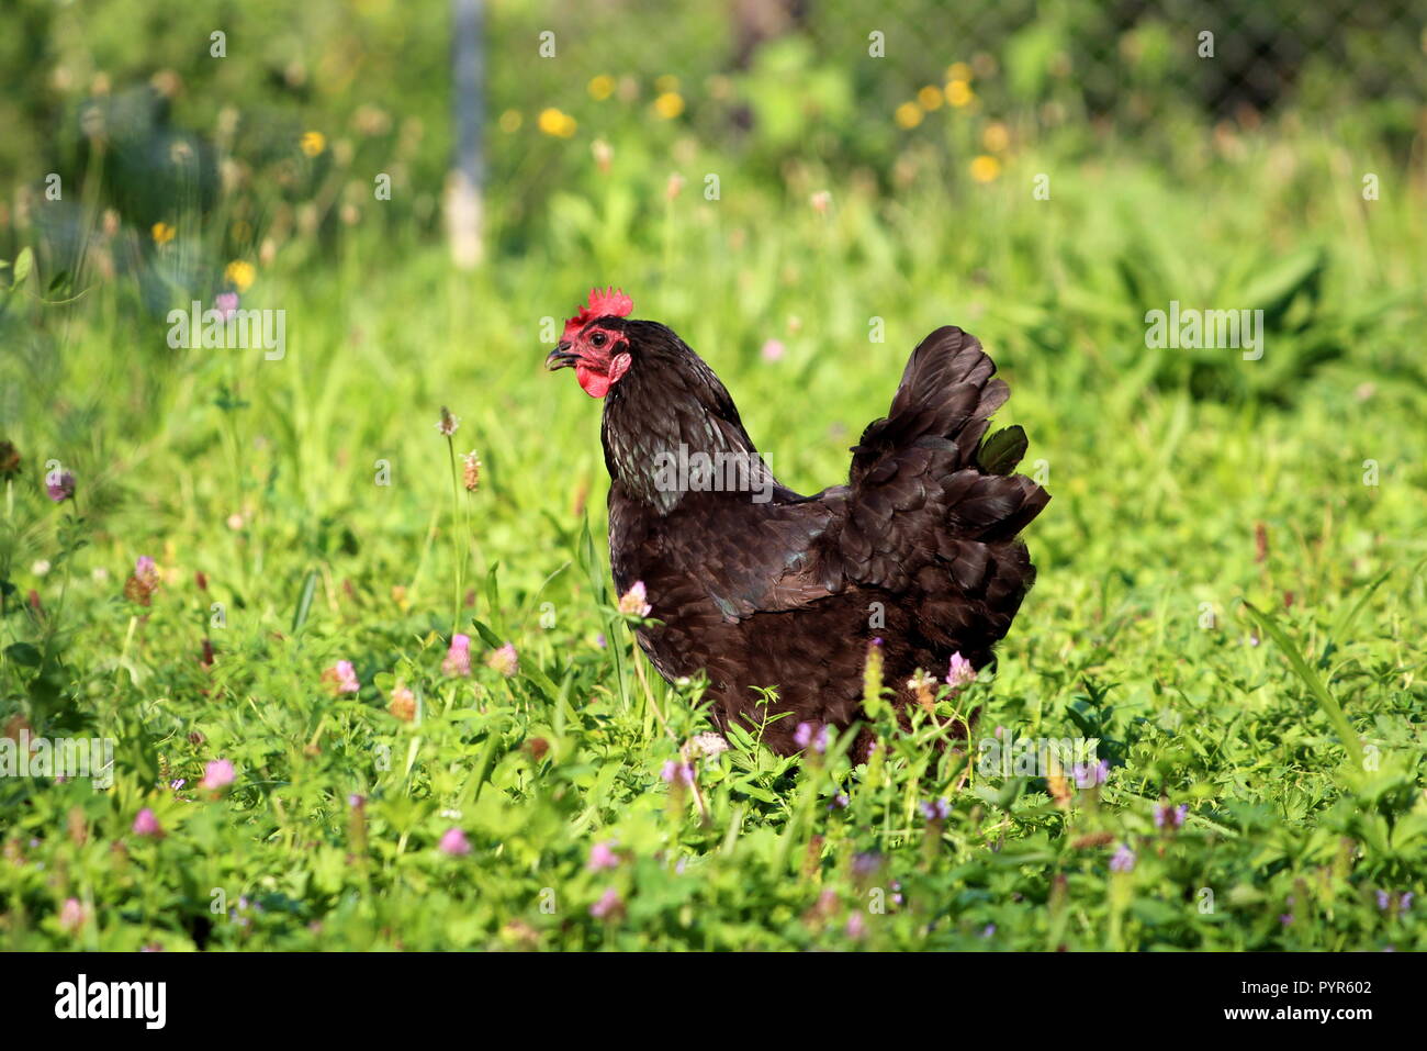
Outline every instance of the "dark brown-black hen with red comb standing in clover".
[[614, 583], [644, 585], [636, 635], [661, 675], [706, 673], [719, 730], [762, 727], [786, 755], [799, 724], [859, 718], [869, 645], [902, 713], [919, 671], [992, 660], [1035, 580], [1017, 534], [1050, 497], [1010, 474], [1020, 427], [983, 440], [1009, 390], [975, 337], [922, 340], [848, 483], [805, 497], [768, 470], [714, 371], [632, 310], [592, 291], [545, 364], [604, 398]]

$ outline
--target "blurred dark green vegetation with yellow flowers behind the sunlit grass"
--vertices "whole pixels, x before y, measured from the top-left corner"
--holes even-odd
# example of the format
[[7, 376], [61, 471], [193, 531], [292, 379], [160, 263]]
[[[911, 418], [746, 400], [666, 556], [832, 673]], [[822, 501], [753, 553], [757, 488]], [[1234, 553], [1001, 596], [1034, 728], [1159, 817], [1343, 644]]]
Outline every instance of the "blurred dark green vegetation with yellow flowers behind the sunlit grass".
[[[588, 217], [571, 196], [599, 184], [595, 143], [626, 181], [626, 213], [642, 213], [669, 170], [701, 193], [701, 169], [732, 201], [803, 197], [832, 180], [888, 200], [936, 180], [946, 207], [965, 208], [980, 156], [979, 177], [1019, 164], [1023, 178], [1035, 159], [1095, 164], [1132, 146], [1189, 180], [1244, 137], [1309, 123], [1346, 150], [1404, 163], [1427, 87], [1421, 0], [910, 0], [876, 11], [850, 0], [678, 11], [498, 0], [484, 11], [495, 256], [578, 233]], [[440, 234], [454, 150], [448, 4], [11, 0], [6, 17], [0, 251], [13, 254], [33, 223], [47, 273], [67, 268], [87, 203], [138, 234], [141, 247], [117, 237], [114, 251], [138, 277], [154, 223], [200, 223], [186, 281], [268, 238], [331, 250], [352, 236], [344, 227]], [[1204, 31], [1213, 57], [1200, 56]], [[64, 204], [36, 208], [50, 173]], [[392, 194], [374, 207], [378, 173]], [[634, 237], [648, 228], [636, 214], [605, 218]]]

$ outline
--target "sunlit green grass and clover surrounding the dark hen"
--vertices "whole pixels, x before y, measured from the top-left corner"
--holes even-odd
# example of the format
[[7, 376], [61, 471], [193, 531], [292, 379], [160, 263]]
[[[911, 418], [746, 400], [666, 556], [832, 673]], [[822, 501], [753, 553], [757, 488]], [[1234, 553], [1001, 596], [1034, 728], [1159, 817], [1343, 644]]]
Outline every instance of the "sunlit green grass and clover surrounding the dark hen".
[[[117, 773], [0, 778], [0, 945], [1421, 948], [1420, 905], [1376, 898], [1427, 892], [1420, 178], [1364, 204], [1363, 150], [1309, 133], [1163, 169], [1040, 149], [889, 198], [731, 169], [705, 201], [714, 157], [672, 203], [666, 161], [589, 171], [474, 277], [400, 236], [357, 228], [334, 264], [293, 241], [245, 296], [288, 311], [283, 361], [170, 351], [124, 281], [11, 296], [0, 715], [113, 737]], [[1097, 738], [1109, 783], [1057, 805], [920, 727], [856, 768], [738, 741], [698, 800], [671, 790], [696, 684], [631, 653], [599, 407], [541, 370], [541, 318], [596, 283], [704, 354], [801, 491], [845, 477], [922, 336], [977, 334], [1055, 498], [999, 671], [958, 700], [976, 741]], [[1264, 308], [1264, 360], [1147, 350], [1170, 298]], [[484, 461], [459, 514], [442, 404]], [[44, 498], [50, 458], [77, 506]], [[457, 551], [469, 678], [441, 671]], [[150, 607], [121, 594], [138, 555], [163, 570]], [[505, 641], [511, 678], [484, 664]], [[338, 660], [360, 693], [324, 685]], [[388, 713], [398, 680], [414, 723]], [[235, 784], [197, 790], [218, 757]], [[918, 804], [943, 797], [932, 824]], [[1187, 804], [1177, 831], [1162, 798]], [[164, 838], [131, 831], [146, 807]], [[438, 850], [451, 828], [469, 854]], [[619, 865], [588, 871], [606, 841]]]

